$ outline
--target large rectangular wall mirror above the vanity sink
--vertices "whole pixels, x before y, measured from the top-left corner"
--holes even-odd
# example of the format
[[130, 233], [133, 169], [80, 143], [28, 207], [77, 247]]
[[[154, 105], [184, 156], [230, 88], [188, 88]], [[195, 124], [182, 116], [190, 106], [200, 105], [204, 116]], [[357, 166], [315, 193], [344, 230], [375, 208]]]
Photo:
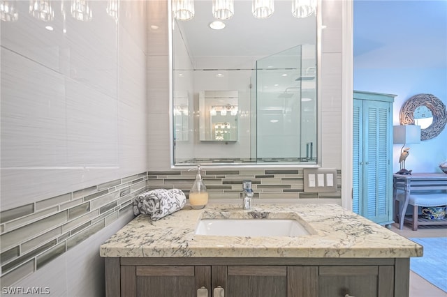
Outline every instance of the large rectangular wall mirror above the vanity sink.
[[293, 15], [292, 2], [275, 0], [258, 18], [251, 0], [235, 0], [212, 29], [228, 11], [173, 0], [174, 165], [318, 163], [318, 9]]

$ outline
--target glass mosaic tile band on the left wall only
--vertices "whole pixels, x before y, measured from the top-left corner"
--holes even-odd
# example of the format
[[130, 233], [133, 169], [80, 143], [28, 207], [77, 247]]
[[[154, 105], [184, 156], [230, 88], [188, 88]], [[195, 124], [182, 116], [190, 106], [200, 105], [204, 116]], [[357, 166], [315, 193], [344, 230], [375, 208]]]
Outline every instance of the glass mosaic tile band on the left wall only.
[[132, 210], [147, 172], [0, 213], [1, 284], [9, 286]]

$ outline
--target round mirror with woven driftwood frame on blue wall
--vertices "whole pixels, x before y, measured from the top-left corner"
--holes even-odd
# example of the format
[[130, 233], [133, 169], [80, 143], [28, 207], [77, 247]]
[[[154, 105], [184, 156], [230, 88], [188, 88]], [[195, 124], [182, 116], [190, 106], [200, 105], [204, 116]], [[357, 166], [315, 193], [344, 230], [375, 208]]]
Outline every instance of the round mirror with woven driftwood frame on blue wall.
[[[425, 108], [426, 107], [426, 108]], [[426, 110], [426, 112], [423, 112]], [[416, 113], [416, 119], [415, 119]], [[416, 123], [420, 121], [420, 124]], [[401, 125], [421, 125], [420, 140], [437, 137], [447, 123], [446, 105], [432, 94], [418, 94], [406, 100], [400, 109]], [[427, 128], [423, 128], [426, 126]]]

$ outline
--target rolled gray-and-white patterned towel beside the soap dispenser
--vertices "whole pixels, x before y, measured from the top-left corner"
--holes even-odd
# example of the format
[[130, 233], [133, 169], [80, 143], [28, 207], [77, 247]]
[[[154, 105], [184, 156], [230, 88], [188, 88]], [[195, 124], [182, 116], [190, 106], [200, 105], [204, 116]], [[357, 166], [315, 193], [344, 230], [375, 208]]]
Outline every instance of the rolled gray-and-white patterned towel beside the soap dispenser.
[[133, 201], [133, 213], [150, 215], [156, 221], [175, 213], [186, 204], [186, 196], [179, 189], [156, 189], [138, 195]]

